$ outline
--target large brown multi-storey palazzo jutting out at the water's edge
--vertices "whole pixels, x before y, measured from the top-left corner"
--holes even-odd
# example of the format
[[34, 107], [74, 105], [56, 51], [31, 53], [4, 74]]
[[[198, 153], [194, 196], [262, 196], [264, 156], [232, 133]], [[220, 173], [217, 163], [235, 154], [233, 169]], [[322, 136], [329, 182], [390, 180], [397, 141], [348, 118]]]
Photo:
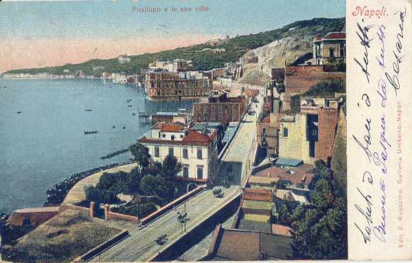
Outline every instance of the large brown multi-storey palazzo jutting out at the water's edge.
[[197, 71], [150, 71], [145, 75], [149, 100], [185, 100], [209, 95], [209, 78]]

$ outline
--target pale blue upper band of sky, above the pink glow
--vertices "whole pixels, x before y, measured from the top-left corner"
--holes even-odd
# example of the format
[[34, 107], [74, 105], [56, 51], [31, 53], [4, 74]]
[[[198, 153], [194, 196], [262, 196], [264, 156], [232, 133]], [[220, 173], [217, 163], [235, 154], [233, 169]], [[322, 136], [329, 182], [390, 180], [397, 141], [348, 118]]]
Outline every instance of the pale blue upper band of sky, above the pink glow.
[[[207, 5], [209, 12], [132, 12], [133, 5]], [[3, 38], [133, 38], [249, 34], [298, 20], [345, 16], [344, 0], [41, 1], [0, 4]], [[165, 33], [167, 32], [167, 33]]]

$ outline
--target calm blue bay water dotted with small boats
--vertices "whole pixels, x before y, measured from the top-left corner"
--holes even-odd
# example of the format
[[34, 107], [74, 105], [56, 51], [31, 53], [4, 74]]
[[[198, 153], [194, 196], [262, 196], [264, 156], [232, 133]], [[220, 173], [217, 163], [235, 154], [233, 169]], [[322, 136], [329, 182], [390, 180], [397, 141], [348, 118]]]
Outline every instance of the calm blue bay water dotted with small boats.
[[150, 114], [192, 103], [148, 102], [142, 88], [101, 80], [0, 78], [0, 213], [42, 206], [45, 191], [73, 173], [128, 161], [128, 153], [100, 157], [148, 130], [138, 122], [139, 108]]

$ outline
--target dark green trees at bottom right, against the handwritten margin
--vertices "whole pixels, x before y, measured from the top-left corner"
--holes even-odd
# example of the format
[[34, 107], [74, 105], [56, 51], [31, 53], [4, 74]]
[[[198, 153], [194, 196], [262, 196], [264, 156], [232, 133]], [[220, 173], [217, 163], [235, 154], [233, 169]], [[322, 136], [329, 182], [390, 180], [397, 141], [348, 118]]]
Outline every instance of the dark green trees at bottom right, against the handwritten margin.
[[323, 161], [315, 163], [309, 187], [310, 206], [299, 205], [291, 216], [293, 258], [347, 258], [346, 196]]

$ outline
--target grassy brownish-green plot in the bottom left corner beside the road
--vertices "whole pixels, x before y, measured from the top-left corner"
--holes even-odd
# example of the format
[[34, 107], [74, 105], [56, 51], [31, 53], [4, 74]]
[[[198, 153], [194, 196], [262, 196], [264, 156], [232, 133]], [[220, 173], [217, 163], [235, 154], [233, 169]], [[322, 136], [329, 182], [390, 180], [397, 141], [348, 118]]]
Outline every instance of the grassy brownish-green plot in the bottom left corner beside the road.
[[12, 262], [71, 262], [120, 231], [67, 209], [27, 233], [13, 247], [3, 246], [1, 255]]

